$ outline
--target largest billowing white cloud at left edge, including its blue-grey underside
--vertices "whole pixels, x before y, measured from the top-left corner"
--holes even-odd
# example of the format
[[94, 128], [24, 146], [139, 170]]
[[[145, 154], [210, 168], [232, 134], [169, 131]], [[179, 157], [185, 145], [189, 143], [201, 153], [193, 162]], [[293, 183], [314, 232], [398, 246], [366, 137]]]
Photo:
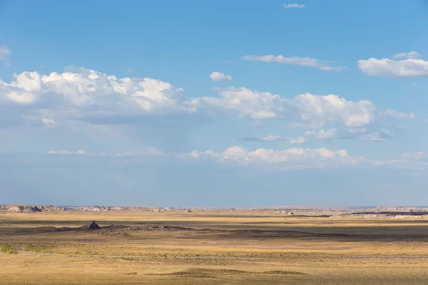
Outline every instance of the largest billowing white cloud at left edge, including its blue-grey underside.
[[0, 104], [27, 105], [52, 120], [194, 112], [183, 89], [170, 83], [151, 78], [116, 78], [85, 68], [70, 69], [74, 72], [23, 72], [14, 75], [11, 83], [0, 81]]

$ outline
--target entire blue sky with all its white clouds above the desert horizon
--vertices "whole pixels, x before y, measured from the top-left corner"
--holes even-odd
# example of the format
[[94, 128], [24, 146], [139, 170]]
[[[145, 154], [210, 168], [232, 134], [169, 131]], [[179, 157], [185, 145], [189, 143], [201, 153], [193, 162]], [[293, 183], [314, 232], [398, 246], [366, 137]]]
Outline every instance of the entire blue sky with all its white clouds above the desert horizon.
[[420, 205], [428, 2], [1, 1], [4, 203]]

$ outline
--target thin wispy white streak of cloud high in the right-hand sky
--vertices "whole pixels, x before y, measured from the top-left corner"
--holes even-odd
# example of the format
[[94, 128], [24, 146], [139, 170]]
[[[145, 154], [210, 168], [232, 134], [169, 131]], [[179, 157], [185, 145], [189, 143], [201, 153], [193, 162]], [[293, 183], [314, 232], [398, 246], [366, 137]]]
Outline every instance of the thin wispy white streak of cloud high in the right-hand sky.
[[307, 66], [312, 68], [320, 68], [322, 71], [340, 71], [342, 67], [332, 67], [329, 63], [330, 61], [319, 60], [316, 58], [300, 58], [298, 56], [243, 56], [244, 61], [262, 61], [266, 63], [283, 63], [283, 64], [292, 64], [298, 66]]

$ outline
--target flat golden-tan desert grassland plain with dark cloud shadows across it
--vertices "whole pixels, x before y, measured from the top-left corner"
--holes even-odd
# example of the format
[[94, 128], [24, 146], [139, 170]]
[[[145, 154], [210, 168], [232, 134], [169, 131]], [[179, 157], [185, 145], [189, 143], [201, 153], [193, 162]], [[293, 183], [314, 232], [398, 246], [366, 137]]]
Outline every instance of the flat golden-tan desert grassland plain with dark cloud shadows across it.
[[0, 213], [0, 248], [0, 284], [428, 284], [424, 218]]

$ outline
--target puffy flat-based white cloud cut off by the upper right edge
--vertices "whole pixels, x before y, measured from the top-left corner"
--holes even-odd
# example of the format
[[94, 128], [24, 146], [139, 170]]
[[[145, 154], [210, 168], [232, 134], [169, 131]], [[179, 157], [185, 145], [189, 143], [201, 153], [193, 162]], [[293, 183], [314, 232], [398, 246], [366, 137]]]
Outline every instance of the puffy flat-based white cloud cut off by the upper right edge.
[[417, 59], [419, 53], [412, 51], [410, 53], [397, 53], [394, 58], [405, 58], [394, 60], [390, 58], [369, 58], [358, 61], [358, 66], [363, 73], [368, 76], [384, 77], [427, 77], [428, 61]]

